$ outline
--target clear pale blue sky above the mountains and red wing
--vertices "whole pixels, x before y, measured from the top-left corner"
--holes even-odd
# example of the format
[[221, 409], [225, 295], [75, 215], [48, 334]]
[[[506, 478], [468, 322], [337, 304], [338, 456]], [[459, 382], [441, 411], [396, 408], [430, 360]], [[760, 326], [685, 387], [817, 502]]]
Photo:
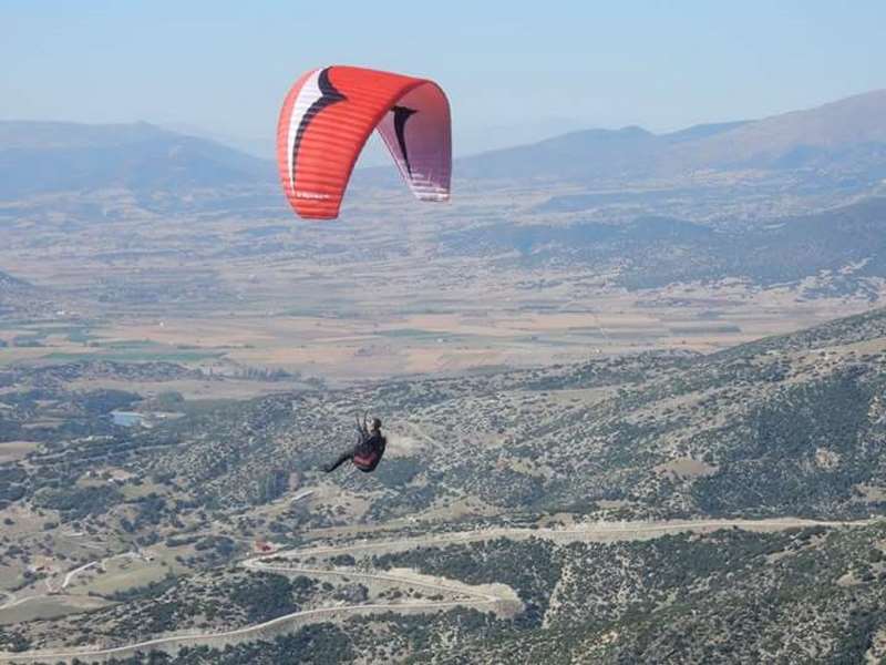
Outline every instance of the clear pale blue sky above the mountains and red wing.
[[266, 156], [305, 70], [426, 76], [466, 154], [886, 88], [886, 2], [0, 0], [0, 120], [141, 120]]

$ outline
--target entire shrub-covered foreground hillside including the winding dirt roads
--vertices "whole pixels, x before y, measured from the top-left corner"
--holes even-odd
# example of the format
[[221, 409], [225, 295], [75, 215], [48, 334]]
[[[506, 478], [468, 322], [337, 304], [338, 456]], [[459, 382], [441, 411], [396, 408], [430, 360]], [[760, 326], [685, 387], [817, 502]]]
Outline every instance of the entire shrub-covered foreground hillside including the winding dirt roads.
[[[85, 376], [92, 389], [70, 388]], [[224, 380], [171, 364], [0, 374], [6, 648], [186, 630], [208, 637], [182, 665], [293, 648], [333, 663], [886, 655], [884, 309], [709, 356], [246, 401], [96, 383], [190, 377]], [[326, 475], [358, 406], [384, 419], [385, 459]], [[109, 417], [158, 408], [176, 412]], [[261, 542], [293, 550], [248, 559]], [[250, 632], [297, 612], [312, 618]]]

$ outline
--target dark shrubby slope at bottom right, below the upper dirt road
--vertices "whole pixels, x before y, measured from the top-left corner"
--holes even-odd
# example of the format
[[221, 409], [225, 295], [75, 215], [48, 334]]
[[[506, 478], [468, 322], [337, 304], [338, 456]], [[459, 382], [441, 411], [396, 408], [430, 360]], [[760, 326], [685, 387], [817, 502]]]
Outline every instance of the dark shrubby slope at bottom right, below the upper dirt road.
[[[452, 613], [422, 627], [384, 617], [406, 663], [832, 663], [880, 656], [886, 526], [827, 533], [719, 531], [649, 542], [553, 545], [538, 539], [381, 556], [456, 580], [505, 581], [529, 610], [517, 625]], [[473, 624], [473, 625], [472, 625]], [[436, 635], [462, 628], [459, 646]], [[431, 644], [427, 644], [430, 642]], [[364, 648], [369, 644], [361, 645]], [[435, 657], [445, 648], [446, 656]], [[404, 649], [406, 651], [406, 649]]]

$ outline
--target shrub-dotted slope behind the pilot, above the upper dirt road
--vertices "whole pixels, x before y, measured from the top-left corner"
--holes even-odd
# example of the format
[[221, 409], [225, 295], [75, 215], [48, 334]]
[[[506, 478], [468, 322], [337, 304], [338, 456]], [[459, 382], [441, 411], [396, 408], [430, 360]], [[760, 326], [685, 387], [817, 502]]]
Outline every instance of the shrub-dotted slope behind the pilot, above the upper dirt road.
[[[248, 504], [257, 497], [249, 488], [275, 470], [324, 480], [316, 471], [323, 451], [347, 437], [341, 428], [359, 403], [411, 441], [372, 479], [346, 484], [378, 495], [364, 520], [431, 514], [453, 501], [497, 514], [617, 505], [645, 518], [864, 515], [884, 501], [869, 488], [886, 472], [875, 443], [886, 437], [885, 317], [858, 319], [869, 321], [867, 335], [826, 350], [803, 348], [797, 340], [813, 334], [804, 332], [740, 355], [637, 356], [266, 398], [178, 422], [176, 438], [195, 442], [154, 464], [200, 488], [202, 501]], [[196, 442], [207, 431], [206, 443]]]

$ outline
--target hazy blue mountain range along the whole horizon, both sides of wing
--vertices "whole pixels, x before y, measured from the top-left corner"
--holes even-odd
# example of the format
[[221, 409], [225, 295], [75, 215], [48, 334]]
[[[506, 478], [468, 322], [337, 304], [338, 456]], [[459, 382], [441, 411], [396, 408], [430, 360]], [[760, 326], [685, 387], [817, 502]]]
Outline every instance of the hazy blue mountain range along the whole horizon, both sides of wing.
[[[705, 172], [802, 171], [834, 182], [886, 178], [886, 90], [756, 121], [668, 134], [641, 127], [570, 132], [456, 161], [463, 180], [627, 183]], [[0, 122], [0, 198], [125, 187], [186, 191], [272, 185], [275, 167], [208, 139], [146, 124]], [[392, 166], [356, 181], [383, 185]]]

